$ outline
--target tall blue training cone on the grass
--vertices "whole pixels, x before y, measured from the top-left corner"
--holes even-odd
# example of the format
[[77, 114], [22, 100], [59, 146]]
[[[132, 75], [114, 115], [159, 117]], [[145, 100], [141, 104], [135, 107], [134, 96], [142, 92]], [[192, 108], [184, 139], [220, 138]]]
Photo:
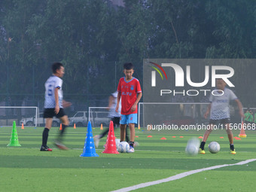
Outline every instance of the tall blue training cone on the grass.
[[87, 137], [84, 141], [84, 151], [80, 157], [99, 157], [99, 154], [96, 154], [95, 145], [93, 141], [93, 130], [90, 121], [87, 126]]

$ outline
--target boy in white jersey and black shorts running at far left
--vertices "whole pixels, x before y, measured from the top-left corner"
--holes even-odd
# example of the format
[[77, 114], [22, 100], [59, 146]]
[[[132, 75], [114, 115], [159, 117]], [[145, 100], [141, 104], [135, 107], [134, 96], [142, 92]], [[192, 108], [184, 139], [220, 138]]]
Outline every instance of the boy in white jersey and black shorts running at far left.
[[62, 130], [56, 139], [55, 145], [62, 150], [68, 148], [62, 144], [62, 136], [69, 125], [68, 116], [65, 114], [63, 107], [71, 105], [70, 102], [65, 102], [62, 94], [62, 77], [64, 75], [64, 67], [60, 62], [54, 62], [52, 65], [53, 75], [45, 82], [45, 100], [44, 100], [44, 119], [45, 128], [42, 136], [42, 145], [40, 151], [52, 151], [47, 146], [48, 133], [53, 123], [53, 117], [56, 116], [62, 121]]

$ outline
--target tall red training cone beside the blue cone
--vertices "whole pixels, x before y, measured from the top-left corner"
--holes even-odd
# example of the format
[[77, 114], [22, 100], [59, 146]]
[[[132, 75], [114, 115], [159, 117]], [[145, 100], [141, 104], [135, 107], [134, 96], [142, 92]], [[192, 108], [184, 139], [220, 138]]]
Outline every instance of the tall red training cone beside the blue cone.
[[114, 136], [114, 124], [111, 120], [109, 123], [108, 139], [105, 145], [105, 150], [102, 151], [103, 154], [119, 154], [117, 151], [117, 145], [115, 144]]

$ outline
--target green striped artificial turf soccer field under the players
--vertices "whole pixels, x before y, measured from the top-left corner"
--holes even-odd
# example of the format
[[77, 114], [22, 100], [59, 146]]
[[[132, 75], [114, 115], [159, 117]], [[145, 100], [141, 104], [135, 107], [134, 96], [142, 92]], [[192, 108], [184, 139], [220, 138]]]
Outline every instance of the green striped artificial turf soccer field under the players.
[[[7, 147], [11, 131], [12, 127], [0, 128], [0, 191], [112, 191], [195, 169], [256, 158], [256, 131], [252, 130], [246, 131], [247, 138], [234, 140], [236, 155], [229, 154], [226, 132], [218, 130], [209, 136], [206, 145], [216, 141], [221, 151], [210, 154], [206, 150], [205, 155], [194, 157], [187, 156], [184, 148], [188, 139], [203, 136], [203, 132], [136, 130], [136, 141], [140, 145], [134, 154], [102, 154], [105, 137], [96, 149], [99, 157], [79, 157], [83, 153], [86, 127], [68, 128], [65, 144], [69, 151], [54, 148], [53, 139], [59, 129], [53, 127], [48, 142], [52, 152], [39, 151], [43, 127], [25, 126], [22, 130], [17, 126], [21, 147]], [[93, 136], [100, 131], [99, 127], [93, 128]], [[234, 132], [234, 136], [238, 135], [239, 131]], [[115, 130], [115, 136], [120, 138], [119, 130]], [[162, 137], [166, 140], [161, 140]], [[255, 171], [256, 161], [252, 161], [198, 172], [136, 191], [251, 191]]]

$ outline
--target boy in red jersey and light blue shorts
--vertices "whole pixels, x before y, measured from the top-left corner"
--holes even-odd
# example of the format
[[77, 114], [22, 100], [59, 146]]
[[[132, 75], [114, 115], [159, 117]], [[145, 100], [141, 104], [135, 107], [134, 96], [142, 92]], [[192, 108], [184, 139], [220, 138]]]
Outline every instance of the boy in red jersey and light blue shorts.
[[[137, 123], [137, 105], [142, 98], [142, 88], [139, 80], [133, 78], [133, 63], [126, 62], [123, 64], [123, 73], [125, 77], [120, 78], [117, 87], [117, 107], [118, 111], [119, 102], [121, 98], [121, 116], [120, 116], [120, 142], [123, 142], [126, 136], [126, 125], [130, 128], [130, 151], [134, 152], [134, 139], [135, 139], [135, 124]], [[138, 94], [138, 96], [137, 96]]]

